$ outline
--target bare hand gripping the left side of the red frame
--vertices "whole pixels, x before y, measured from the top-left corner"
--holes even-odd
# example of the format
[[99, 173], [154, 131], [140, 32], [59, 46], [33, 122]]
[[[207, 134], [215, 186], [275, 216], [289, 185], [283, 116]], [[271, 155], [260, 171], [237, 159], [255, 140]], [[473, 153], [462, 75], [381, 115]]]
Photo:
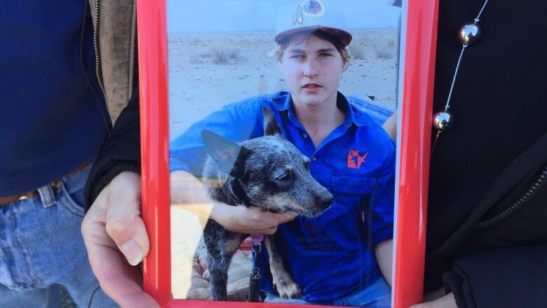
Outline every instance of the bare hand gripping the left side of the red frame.
[[142, 274], [134, 267], [149, 250], [140, 187], [140, 175], [120, 173], [97, 196], [81, 226], [91, 269], [121, 307], [159, 307], [142, 290]]

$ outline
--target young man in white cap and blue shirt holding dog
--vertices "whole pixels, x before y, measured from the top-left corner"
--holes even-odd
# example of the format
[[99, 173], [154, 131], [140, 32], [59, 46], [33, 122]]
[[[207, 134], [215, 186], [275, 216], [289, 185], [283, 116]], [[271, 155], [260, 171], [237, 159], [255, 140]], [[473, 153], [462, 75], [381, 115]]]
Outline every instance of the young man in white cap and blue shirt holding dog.
[[[331, 208], [313, 219], [277, 214], [280, 223], [287, 223], [277, 227], [276, 241], [285, 268], [304, 295], [282, 299], [264, 266], [267, 262], [259, 260], [265, 302], [390, 305], [386, 280], [391, 280], [395, 147], [370, 116], [337, 92], [348, 65], [350, 41], [344, 18], [334, 7], [305, 1], [285, 8], [276, 42], [289, 92], [228, 105], [171, 144], [172, 202], [213, 203], [194, 178], [201, 176], [205, 159], [201, 130], [213, 130], [236, 142], [257, 138], [264, 135], [260, 110], [267, 106], [283, 137], [311, 160], [313, 178], [335, 197]], [[256, 213], [256, 208], [215, 203], [210, 217], [233, 232], [274, 233], [274, 216], [250, 218]], [[253, 220], [254, 225], [242, 227], [241, 220]]]

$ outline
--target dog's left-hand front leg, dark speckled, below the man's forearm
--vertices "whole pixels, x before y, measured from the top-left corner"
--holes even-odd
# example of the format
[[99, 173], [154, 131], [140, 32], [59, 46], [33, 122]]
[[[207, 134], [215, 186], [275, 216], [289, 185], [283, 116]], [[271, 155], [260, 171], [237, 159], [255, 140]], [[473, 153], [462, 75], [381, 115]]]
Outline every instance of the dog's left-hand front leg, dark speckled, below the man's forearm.
[[213, 300], [228, 300], [228, 269], [231, 258], [245, 237], [245, 234], [229, 232], [212, 220], [205, 226], [203, 239], [208, 252], [209, 283]]

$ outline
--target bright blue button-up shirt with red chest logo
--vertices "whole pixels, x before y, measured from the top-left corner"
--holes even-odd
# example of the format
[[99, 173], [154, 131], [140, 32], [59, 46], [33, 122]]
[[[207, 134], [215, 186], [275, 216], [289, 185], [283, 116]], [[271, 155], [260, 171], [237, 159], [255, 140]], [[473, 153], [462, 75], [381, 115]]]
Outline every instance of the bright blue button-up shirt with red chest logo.
[[[304, 300], [312, 302], [334, 300], [370, 286], [381, 276], [374, 246], [393, 237], [395, 145], [344, 95], [337, 98], [344, 123], [318, 147], [299, 123], [290, 93], [278, 92], [227, 105], [195, 123], [171, 143], [170, 170], [201, 175], [203, 129], [236, 142], [264, 135], [263, 105], [274, 111], [283, 137], [311, 159], [313, 178], [334, 196], [322, 215], [299, 216], [278, 227], [276, 243], [285, 268], [302, 288]], [[273, 291], [265, 254], [259, 258], [264, 259], [259, 262], [261, 288]]]

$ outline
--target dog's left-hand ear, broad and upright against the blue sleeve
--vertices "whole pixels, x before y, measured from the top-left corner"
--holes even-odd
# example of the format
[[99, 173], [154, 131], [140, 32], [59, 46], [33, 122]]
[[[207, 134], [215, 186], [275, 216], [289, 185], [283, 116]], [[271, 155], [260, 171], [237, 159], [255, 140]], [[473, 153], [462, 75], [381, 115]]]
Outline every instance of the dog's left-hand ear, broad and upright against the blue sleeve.
[[201, 139], [205, 150], [215, 160], [222, 172], [235, 178], [239, 178], [245, 173], [244, 162], [251, 153], [250, 149], [210, 130], [202, 130]]

